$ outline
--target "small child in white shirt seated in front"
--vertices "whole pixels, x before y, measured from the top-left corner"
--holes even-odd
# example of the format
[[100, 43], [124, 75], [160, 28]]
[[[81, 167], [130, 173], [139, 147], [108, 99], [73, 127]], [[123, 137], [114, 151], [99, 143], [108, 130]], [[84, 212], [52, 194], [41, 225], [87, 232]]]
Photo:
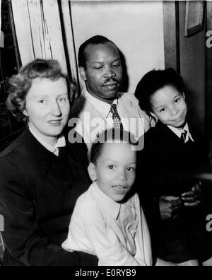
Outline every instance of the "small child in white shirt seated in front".
[[[62, 247], [97, 255], [99, 265], [151, 266], [151, 240], [139, 197], [133, 193], [136, 151], [131, 135], [109, 130], [90, 152], [93, 184], [76, 203]], [[160, 261], [158, 261], [158, 264]]]

